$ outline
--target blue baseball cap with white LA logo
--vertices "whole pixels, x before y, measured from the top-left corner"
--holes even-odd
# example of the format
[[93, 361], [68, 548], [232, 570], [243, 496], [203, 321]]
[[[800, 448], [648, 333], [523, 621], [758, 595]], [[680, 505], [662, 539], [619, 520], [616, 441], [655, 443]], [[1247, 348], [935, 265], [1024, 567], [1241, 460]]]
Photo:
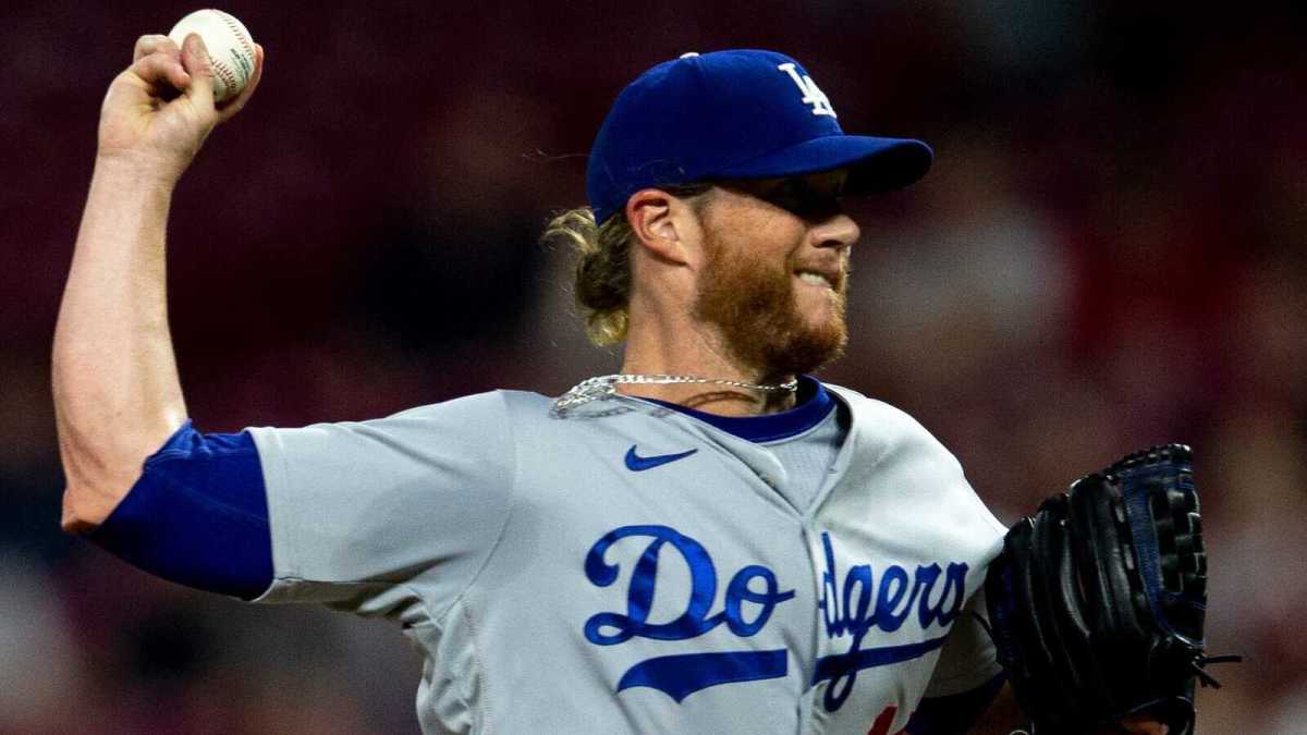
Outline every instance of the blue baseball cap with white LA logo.
[[586, 171], [595, 220], [646, 187], [847, 169], [846, 194], [921, 178], [920, 140], [844, 135], [835, 109], [789, 56], [752, 48], [686, 54], [627, 85], [609, 110]]

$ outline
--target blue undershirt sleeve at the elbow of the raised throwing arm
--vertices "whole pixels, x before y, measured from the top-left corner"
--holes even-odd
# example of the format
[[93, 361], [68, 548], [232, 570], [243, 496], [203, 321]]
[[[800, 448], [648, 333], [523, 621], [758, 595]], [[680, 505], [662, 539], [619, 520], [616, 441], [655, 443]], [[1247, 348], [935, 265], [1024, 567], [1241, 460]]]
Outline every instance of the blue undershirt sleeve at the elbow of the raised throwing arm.
[[248, 432], [200, 434], [188, 420], [89, 539], [165, 579], [252, 600], [272, 585], [272, 531]]

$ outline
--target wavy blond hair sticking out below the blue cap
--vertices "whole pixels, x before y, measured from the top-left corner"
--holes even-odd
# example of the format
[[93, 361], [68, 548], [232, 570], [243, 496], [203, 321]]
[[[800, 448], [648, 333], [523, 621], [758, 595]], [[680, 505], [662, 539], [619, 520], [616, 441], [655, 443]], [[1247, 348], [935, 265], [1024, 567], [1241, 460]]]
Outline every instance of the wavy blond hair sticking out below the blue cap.
[[[711, 184], [659, 187], [681, 199], [694, 199]], [[699, 211], [699, 201], [693, 201]], [[595, 222], [595, 211], [579, 207], [557, 214], [545, 226], [541, 242], [569, 246], [576, 252], [576, 305], [586, 319], [586, 335], [599, 347], [626, 340], [627, 306], [631, 298], [631, 252], [634, 239], [625, 212]]]

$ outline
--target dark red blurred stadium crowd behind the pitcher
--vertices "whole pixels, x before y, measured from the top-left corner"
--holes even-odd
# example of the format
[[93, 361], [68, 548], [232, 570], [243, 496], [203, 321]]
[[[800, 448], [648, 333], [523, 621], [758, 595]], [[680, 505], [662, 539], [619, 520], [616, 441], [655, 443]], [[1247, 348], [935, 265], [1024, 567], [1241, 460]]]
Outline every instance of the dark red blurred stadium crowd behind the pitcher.
[[[1303, 8], [231, 0], [268, 65], [175, 197], [192, 416], [366, 419], [610, 371], [542, 222], [583, 201], [638, 72], [782, 50], [846, 129], [938, 156], [853, 204], [853, 343], [825, 377], [919, 417], [1006, 522], [1193, 443], [1210, 645], [1249, 657], [1201, 731], [1307, 732]], [[58, 530], [48, 352], [99, 101], [191, 9], [0, 9], [0, 732], [416, 732], [420, 662], [387, 624], [192, 592]]]

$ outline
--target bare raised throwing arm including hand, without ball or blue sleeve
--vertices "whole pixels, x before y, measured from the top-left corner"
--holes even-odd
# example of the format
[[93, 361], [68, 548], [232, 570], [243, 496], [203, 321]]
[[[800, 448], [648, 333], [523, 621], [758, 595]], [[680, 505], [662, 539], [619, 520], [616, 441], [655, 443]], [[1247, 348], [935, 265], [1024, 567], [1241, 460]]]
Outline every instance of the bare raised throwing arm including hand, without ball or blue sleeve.
[[167, 212], [204, 139], [254, 93], [263, 71], [256, 51], [250, 85], [218, 110], [199, 37], [184, 48], [141, 37], [105, 97], [52, 354], [65, 531], [103, 522], [186, 419], [167, 326]]

